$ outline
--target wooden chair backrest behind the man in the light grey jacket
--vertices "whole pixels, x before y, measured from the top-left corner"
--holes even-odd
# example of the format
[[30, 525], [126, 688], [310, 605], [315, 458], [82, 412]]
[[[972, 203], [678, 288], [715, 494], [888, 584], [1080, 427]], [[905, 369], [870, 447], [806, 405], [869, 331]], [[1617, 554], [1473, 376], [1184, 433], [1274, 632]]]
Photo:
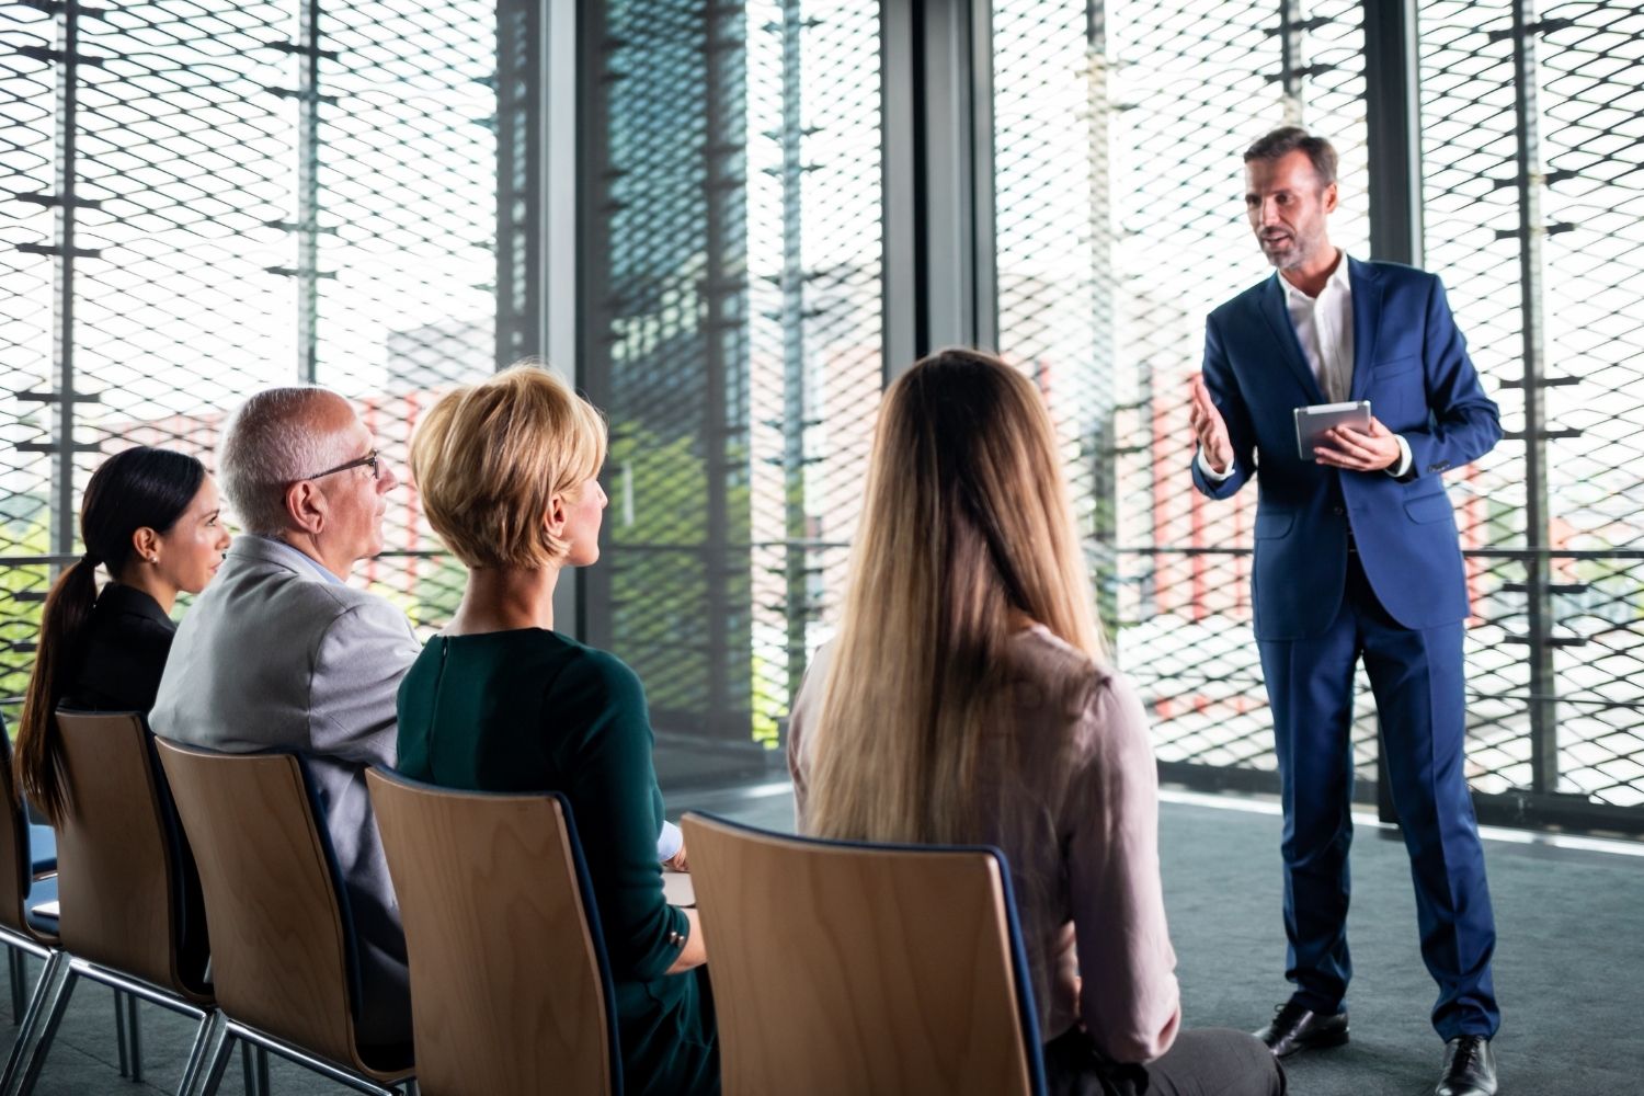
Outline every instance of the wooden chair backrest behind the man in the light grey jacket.
[[344, 899], [301, 761], [155, 744], [199, 864], [217, 1004], [372, 1073], [353, 1032]]

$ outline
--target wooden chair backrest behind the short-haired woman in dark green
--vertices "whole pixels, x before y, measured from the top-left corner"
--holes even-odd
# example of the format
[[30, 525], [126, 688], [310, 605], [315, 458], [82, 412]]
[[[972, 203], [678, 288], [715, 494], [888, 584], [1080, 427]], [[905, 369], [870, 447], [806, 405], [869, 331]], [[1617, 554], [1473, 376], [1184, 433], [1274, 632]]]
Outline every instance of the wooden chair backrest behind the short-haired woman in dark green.
[[370, 769], [429, 1096], [621, 1091], [615, 1001], [564, 797]]

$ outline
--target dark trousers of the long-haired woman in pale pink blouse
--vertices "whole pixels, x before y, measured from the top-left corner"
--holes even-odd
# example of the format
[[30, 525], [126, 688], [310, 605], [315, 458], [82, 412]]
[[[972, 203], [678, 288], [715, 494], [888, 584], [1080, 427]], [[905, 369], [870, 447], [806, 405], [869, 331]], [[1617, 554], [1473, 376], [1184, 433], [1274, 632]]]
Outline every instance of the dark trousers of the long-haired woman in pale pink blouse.
[[1284, 1096], [1284, 1068], [1246, 1032], [1180, 1032], [1146, 1065], [1103, 1061], [1077, 1027], [1044, 1047], [1051, 1096]]

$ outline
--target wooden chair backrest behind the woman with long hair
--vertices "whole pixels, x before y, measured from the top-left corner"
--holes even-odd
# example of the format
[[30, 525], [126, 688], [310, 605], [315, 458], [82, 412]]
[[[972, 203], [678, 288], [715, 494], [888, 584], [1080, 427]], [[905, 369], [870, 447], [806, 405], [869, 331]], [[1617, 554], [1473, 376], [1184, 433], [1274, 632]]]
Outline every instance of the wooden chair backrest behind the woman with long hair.
[[1044, 1091], [998, 850], [681, 825], [725, 1096]]

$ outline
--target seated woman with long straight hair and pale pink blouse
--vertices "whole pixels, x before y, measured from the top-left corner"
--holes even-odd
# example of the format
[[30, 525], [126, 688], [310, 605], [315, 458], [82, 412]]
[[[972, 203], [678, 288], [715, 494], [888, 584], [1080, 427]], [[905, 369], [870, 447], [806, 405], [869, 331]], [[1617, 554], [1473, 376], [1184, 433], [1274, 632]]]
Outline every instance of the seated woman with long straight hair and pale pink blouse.
[[1281, 1093], [1254, 1037], [1177, 1030], [1148, 723], [1060, 462], [998, 358], [945, 350], [889, 386], [838, 634], [789, 723], [801, 831], [1004, 851], [1052, 1093]]

